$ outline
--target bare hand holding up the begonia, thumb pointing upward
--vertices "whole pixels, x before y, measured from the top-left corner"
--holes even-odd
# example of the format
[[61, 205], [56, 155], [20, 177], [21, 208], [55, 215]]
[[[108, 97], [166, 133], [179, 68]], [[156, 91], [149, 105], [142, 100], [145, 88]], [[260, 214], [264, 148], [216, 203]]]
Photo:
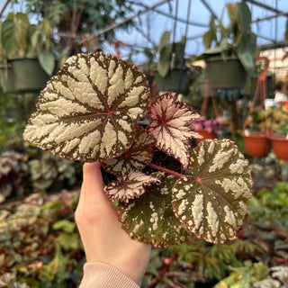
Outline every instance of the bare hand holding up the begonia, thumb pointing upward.
[[103, 191], [100, 167], [99, 162], [83, 166], [83, 184], [75, 212], [86, 260], [115, 266], [140, 284], [151, 247], [130, 238], [121, 228], [115, 208]]

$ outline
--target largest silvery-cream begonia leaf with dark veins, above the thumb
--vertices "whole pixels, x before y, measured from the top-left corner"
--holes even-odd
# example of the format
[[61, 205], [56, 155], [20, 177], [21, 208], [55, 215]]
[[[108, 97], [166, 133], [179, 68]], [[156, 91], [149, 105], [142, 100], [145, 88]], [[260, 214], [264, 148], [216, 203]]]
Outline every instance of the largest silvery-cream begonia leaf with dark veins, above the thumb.
[[116, 157], [148, 110], [146, 76], [102, 52], [68, 58], [40, 93], [24, 139], [58, 157], [93, 162]]

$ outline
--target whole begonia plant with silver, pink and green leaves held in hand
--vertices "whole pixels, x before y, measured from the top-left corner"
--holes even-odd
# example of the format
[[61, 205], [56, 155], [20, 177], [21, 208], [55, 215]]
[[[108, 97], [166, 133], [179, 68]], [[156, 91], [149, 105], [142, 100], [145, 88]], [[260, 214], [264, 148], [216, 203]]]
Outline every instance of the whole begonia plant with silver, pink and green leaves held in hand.
[[[58, 157], [101, 161], [117, 180], [105, 186], [130, 237], [167, 246], [198, 237], [236, 238], [252, 180], [229, 139], [204, 140], [199, 115], [175, 94], [150, 103], [137, 67], [102, 52], [67, 59], [40, 93], [24, 139]], [[136, 123], [148, 116], [144, 129]]]

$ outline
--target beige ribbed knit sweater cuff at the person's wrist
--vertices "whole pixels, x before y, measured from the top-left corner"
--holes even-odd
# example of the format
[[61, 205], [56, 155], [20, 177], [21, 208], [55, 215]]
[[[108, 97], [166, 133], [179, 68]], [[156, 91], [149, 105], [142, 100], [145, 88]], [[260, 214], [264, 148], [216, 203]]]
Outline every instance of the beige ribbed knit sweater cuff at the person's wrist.
[[87, 262], [79, 288], [139, 288], [117, 267], [102, 262]]

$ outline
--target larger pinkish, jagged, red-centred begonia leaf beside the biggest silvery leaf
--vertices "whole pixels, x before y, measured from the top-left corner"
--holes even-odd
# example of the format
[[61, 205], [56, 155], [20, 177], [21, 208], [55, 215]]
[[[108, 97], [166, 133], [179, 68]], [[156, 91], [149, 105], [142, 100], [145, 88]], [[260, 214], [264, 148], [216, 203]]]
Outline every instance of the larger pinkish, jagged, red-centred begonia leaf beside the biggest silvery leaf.
[[[202, 138], [191, 129], [191, 121], [199, 118], [184, 102], [176, 101], [174, 93], [157, 96], [148, 109], [149, 132], [155, 137], [156, 147], [178, 159], [186, 168], [189, 164], [189, 139]], [[190, 124], [189, 124], [190, 123]]]

